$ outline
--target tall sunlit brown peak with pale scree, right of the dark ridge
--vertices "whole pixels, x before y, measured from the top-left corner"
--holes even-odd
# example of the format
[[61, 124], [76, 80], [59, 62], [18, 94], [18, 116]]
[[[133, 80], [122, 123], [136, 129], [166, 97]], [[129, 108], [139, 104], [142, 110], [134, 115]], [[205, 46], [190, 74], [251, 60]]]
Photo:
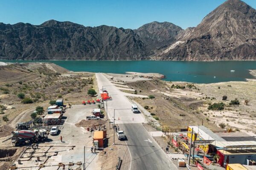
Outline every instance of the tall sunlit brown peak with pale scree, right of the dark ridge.
[[195, 28], [152, 59], [163, 60], [256, 60], [256, 10], [241, 0], [227, 0]]

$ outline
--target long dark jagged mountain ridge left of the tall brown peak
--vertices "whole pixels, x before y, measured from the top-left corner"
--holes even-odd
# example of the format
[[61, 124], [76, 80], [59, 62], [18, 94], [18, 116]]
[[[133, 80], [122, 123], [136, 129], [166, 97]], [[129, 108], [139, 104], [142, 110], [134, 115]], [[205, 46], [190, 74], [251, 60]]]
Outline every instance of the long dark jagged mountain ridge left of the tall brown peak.
[[0, 23], [0, 59], [149, 59], [155, 50], [175, 41], [180, 31], [167, 22], [136, 30], [55, 20], [39, 26]]

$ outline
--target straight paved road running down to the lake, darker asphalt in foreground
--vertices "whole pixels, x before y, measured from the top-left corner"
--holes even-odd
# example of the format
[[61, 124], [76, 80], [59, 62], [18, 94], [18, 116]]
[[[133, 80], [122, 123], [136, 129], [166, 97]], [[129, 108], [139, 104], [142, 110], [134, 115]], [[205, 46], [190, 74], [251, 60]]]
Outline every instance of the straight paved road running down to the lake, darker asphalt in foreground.
[[[131, 153], [131, 162], [123, 163], [131, 164], [129, 170], [177, 170], [141, 124], [145, 122], [144, 116], [132, 113], [131, 102], [124, 96], [124, 93], [119, 91], [103, 74], [97, 73], [96, 77], [99, 89], [102, 89], [104, 85], [113, 98], [112, 101], [108, 101], [109, 119], [113, 119], [113, 108], [128, 108], [116, 110], [115, 117], [119, 118], [116, 123], [119, 124], [120, 129], [125, 130], [128, 139], [126, 143]], [[118, 141], [116, 143], [118, 144]]]

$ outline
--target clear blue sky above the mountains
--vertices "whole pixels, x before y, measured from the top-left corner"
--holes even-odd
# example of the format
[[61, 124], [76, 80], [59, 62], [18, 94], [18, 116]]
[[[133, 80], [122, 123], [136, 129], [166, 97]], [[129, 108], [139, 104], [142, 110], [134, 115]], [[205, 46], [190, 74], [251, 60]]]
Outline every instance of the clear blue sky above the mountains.
[[[138, 28], [167, 21], [187, 28], [225, 0], [0, 0], [0, 22], [39, 25], [54, 19], [84, 26]], [[256, 8], [256, 0], [244, 0]]]

